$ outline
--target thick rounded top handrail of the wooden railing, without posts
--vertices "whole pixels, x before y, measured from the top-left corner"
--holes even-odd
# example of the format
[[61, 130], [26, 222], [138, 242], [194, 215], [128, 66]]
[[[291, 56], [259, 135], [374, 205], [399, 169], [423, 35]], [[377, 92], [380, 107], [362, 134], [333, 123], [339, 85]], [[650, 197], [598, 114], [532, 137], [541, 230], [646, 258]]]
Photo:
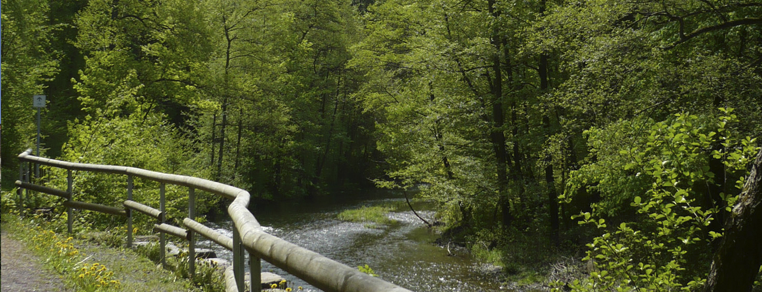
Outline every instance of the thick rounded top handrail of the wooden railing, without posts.
[[[187, 186], [231, 198], [233, 201], [228, 206], [228, 214], [233, 222], [233, 228], [240, 234], [242, 245], [251, 254], [328, 292], [410, 292], [403, 287], [371, 277], [356, 268], [343, 265], [317, 252], [312, 252], [264, 232], [254, 214], [248, 211], [251, 195], [244, 189], [193, 176], [158, 173], [136, 167], [74, 163], [36, 157], [31, 155], [31, 149], [19, 154], [18, 159], [66, 170], [137, 176], [159, 183]], [[180, 229], [179, 227], [176, 228]]]

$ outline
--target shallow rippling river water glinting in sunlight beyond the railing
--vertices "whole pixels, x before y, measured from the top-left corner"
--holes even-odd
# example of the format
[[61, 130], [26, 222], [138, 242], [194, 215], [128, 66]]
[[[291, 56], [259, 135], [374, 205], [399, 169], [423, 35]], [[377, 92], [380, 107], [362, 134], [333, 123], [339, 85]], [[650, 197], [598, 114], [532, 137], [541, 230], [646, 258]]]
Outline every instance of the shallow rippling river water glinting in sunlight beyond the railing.
[[[466, 252], [447, 255], [447, 249], [434, 245], [437, 234], [427, 230], [409, 209], [399, 207], [398, 211], [389, 213], [389, 217], [396, 221], [390, 226], [374, 227], [336, 219], [341, 211], [375, 205], [406, 206], [401, 194], [376, 191], [311, 201], [267, 203], [255, 206], [253, 212], [268, 233], [351, 267], [369, 265], [383, 280], [409, 290], [503, 290], [494, 275], [479, 272], [479, 262]], [[420, 208], [425, 209], [425, 206]], [[430, 219], [434, 217], [433, 211], [422, 210], [418, 214]], [[230, 221], [216, 221], [209, 225], [227, 236], [232, 235]], [[220, 258], [232, 259], [231, 252], [208, 240], [200, 241], [199, 245], [215, 249]], [[262, 271], [287, 278], [290, 287], [302, 286], [306, 291], [319, 291], [270, 263], [262, 262]]]

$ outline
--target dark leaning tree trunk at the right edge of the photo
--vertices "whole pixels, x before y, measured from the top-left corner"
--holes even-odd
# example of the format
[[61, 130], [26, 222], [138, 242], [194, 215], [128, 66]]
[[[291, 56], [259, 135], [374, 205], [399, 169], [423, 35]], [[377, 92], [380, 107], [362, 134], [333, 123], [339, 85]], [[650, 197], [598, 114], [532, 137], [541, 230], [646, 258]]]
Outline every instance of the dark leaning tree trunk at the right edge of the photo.
[[762, 265], [762, 150], [725, 222], [704, 292], [751, 291]]

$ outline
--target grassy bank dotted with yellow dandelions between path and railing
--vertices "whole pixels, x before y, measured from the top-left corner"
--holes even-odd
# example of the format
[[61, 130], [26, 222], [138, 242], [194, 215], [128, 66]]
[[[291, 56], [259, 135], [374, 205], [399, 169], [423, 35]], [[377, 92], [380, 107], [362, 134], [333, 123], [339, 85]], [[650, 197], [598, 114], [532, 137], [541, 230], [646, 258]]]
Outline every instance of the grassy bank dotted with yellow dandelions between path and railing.
[[[96, 236], [92, 236], [91, 232], [80, 231], [67, 236], [61, 232], [58, 222], [42, 220], [39, 216], [2, 214], [2, 230], [28, 246], [46, 269], [60, 275], [66, 287], [73, 290], [224, 290], [219, 285], [194, 285], [187, 278], [181, 277], [182, 268], [174, 268], [176, 272], [165, 270], [133, 249], [114, 247], [114, 240], [110, 243], [94, 242], [92, 239]], [[98, 238], [118, 236], [114, 234]], [[222, 281], [217, 283], [221, 284]]]

